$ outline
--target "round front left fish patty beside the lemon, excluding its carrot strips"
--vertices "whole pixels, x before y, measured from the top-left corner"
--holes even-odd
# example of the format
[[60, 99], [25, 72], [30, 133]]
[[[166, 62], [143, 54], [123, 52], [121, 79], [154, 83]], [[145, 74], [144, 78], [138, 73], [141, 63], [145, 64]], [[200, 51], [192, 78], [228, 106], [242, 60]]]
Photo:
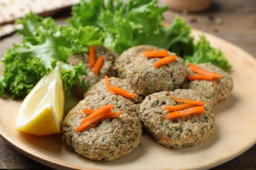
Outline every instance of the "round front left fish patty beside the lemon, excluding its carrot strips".
[[[104, 105], [113, 105], [112, 112], [121, 112], [118, 117], [104, 118], [83, 131], [76, 129], [90, 114], [83, 109], [97, 110]], [[134, 103], [113, 93], [95, 93], [80, 101], [66, 116], [62, 132], [66, 143], [75, 152], [89, 160], [112, 161], [129, 154], [139, 144], [142, 126]]]

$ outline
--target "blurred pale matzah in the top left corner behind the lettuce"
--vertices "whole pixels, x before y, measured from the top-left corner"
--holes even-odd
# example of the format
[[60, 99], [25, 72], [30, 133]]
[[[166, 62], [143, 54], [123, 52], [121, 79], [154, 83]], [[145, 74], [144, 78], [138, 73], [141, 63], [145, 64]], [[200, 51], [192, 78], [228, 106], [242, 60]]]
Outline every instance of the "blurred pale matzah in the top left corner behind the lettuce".
[[45, 16], [75, 3], [79, 0], [0, 0], [0, 37], [12, 33], [13, 22], [30, 11]]

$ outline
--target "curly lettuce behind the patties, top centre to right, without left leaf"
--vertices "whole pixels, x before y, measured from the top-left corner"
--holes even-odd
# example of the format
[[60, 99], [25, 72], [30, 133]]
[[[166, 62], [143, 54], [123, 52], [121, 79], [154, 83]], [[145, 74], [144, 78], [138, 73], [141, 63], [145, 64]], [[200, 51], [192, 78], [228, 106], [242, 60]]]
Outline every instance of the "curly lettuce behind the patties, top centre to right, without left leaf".
[[220, 50], [201, 37], [194, 42], [190, 36], [190, 26], [179, 16], [169, 27], [163, 26], [163, 12], [167, 6], [159, 7], [158, 1], [121, 0], [85, 1], [72, 7], [72, 17], [68, 22], [74, 27], [95, 25], [106, 35], [104, 46], [118, 54], [140, 44], [152, 44], [175, 52], [186, 62], [211, 62], [224, 71], [230, 65]]

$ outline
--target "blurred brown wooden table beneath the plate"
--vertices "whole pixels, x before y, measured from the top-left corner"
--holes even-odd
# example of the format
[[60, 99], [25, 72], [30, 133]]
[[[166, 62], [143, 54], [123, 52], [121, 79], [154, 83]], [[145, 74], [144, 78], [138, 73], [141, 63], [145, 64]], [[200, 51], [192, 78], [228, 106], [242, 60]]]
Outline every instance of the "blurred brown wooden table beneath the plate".
[[[59, 18], [59, 13], [55, 17]], [[171, 23], [175, 15], [185, 18], [187, 24], [195, 29], [221, 37], [232, 42], [247, 51], [256, 58], [256, 1], [255, 0], [213, 0], [209, 9], [198, 13], [177, 12], [169, 10], [165, 12], [167, 23]], [[12, 35], [14, 36], [14, 35]], [[1, 39], [5, 44], [9, 39]], [[20, 39], [17, 38], [17, 42]], [[6, 43], [9, 44], [9, 43]], [[0, 55], [11, 46], [1, 46]], [[241, 56], [242, 57], [242, 56]], [[252, 146], [244, 154], [219, 165], [213, 169], [256, 169], [256, 145]], [[202, 158], [203, 159], [203, 158]], [[52, 169], [31, 160], [14, 150], [0, 137], [0, 169]]]

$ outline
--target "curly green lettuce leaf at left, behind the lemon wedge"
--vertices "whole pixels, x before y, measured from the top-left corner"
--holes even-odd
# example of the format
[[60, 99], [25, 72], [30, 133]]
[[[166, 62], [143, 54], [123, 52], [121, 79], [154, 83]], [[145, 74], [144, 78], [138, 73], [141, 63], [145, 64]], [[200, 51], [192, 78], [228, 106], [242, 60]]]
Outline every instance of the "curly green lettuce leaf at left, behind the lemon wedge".
[[[36, 19], [36, 20], [35, 20]], [[2, 56], [4, 67], [0, 80], [0, 95], [9, 93], [13, 98], [26, 95], [41, 77], [56, 65], [62, 65], [64, 88], [74, 84], [87, 88], [80, 80], [86, 75], [84, 65], [70, 66], [66, 60], [71, 54], [87, 52], [89, 45], [102, 45], [104, 34], [93, 26], [58, 26], [53, 18], [40, 18], [30, 13], [18, 23], [23, 25], [18, 33], [24, 35], [22, 44], [13, 47]]]

